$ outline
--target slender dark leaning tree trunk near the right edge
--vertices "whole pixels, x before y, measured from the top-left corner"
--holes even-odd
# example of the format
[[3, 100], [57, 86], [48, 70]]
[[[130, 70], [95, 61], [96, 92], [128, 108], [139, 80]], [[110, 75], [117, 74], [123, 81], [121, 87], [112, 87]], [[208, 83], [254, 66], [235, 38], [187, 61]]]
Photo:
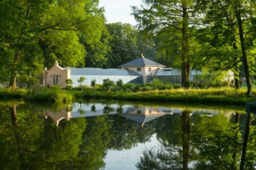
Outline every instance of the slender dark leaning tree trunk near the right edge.
[[238, 28], [239, 28], [239, 36], [240, 36], [240, 43], [241, 43], [241, 50], [242, 50], [243, 67], [245, 69], [245, 78], [246, 78], [246, 84], [247, 84], [246, 95], [250, 96], [250, 94], [251, 94], [251, 79], [250, 79], [249, 65], [248, 65], [247, 56], [246, 56], [245, 40], [243, 39], [243, 26], [242, 26], [240, 2], [239, 1], [240, 0], [236, 1], [236, 3], [237, 3], [236, 19], [237, 19]]

